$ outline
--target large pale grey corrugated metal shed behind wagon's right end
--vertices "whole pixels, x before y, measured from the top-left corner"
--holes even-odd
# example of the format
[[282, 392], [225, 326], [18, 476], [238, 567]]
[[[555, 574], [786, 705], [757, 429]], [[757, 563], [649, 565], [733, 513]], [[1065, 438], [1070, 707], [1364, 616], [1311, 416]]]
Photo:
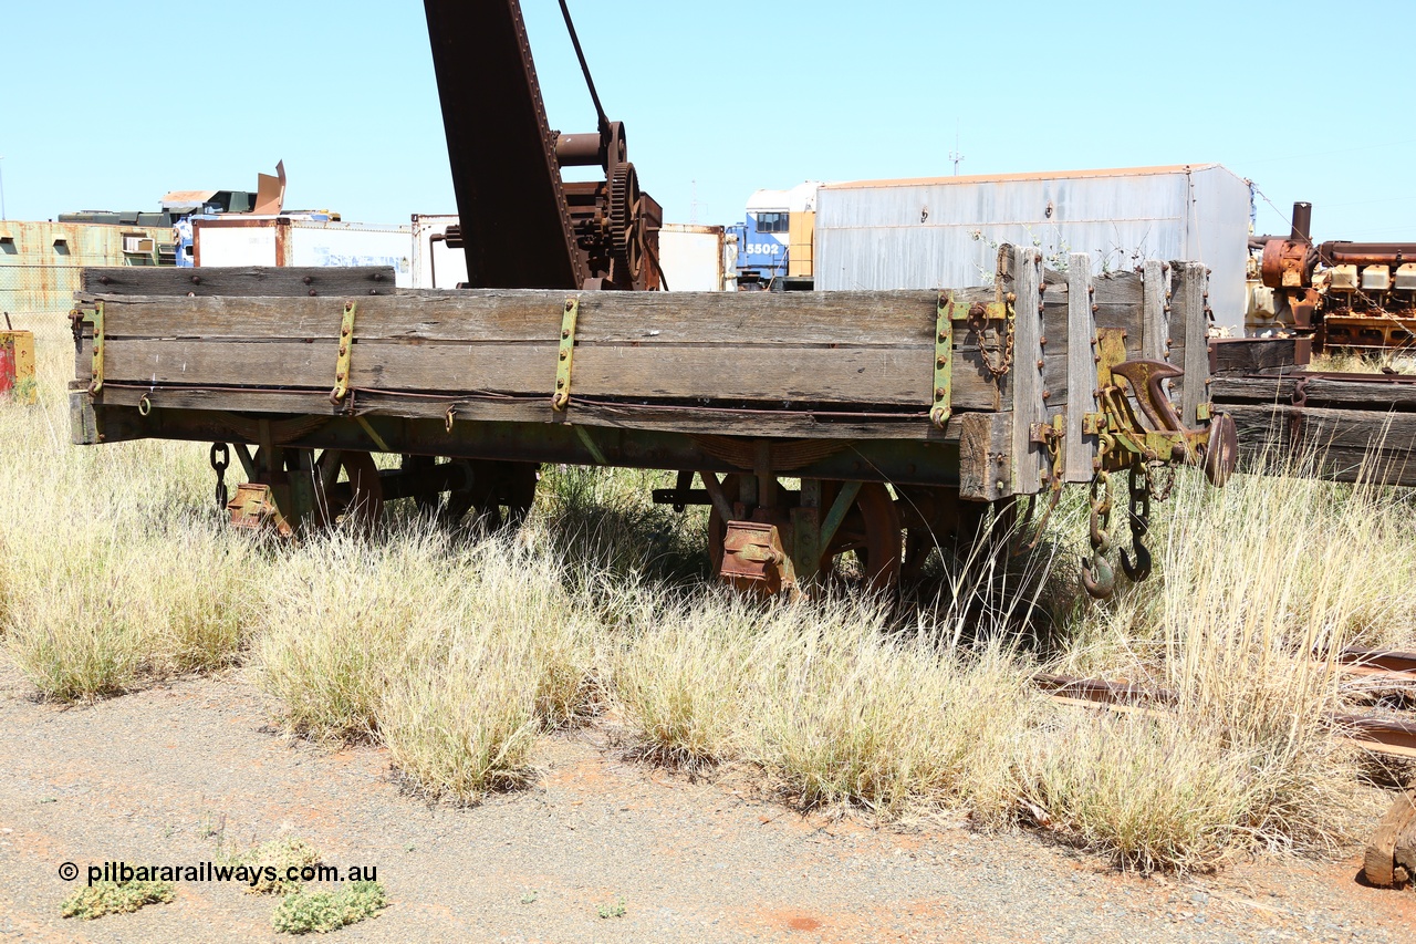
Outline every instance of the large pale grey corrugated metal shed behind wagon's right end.
[[1089, 252], [1096, 274], [1198, 261], [1215, 323], [1242, 333], [1252, 207], [1249, 181], [1221, 164], [826, 184], [816, 288], [986, 285], [1000, 242]]

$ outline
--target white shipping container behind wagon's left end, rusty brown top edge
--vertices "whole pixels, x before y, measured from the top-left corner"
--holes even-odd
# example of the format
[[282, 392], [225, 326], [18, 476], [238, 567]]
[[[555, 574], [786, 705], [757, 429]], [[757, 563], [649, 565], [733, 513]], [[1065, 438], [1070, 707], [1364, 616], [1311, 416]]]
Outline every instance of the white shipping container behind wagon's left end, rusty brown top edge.
[[193, 224], [200, 266], [388, 265], [398, 288], [413, 286], [411, 227], [232, 215]]

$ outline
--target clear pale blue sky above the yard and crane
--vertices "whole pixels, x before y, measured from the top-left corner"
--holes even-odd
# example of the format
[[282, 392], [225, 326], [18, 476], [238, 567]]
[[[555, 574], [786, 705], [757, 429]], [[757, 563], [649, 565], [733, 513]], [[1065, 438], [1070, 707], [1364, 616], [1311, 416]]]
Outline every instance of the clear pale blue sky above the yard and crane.
[[[523, 0], [552, 128], [595, 116], [555, 0]], [[1416, 240], [1416, 3], [571, 0], [668, 221], [807, 179], [1219, 162], [1314, 235]], [[174, 189], [401, 223], [455, 211], [422, 4], [0, 0], [10, 218]], [[1366, 91], [1371, 89], [1371, 91]], [[1260, 201], [1259, 230], [1287, 224]]]

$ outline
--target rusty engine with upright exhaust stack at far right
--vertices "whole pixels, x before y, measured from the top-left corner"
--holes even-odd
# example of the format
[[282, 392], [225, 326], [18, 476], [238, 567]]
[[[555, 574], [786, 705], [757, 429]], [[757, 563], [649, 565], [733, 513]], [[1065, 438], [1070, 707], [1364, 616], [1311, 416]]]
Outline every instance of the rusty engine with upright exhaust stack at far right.
[[1259, 274], [1280, 320], [1315, 350], [1416, 347], [1416, 242], [1323, 242], [1308, 235], [1313, 206], [1293, 206], [1287, 238], [1257, 241]]

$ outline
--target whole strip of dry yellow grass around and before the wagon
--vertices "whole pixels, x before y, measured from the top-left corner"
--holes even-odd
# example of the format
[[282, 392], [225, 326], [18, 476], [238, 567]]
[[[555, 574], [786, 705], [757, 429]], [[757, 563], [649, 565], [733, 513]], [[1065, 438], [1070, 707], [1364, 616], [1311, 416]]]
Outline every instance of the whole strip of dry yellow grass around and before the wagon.
[[[705, 585], [704, 516], [649, 505], [646, 473], [548, 469], [520, 540], [395, 516], [374, 537], [252, 543], [211, 507], [204, 446], [69, 446], [67, 359], [41, 344], [41, 405], [0, 405], [0, 631], [35, 689], [242, 663], [290, 731], [387, 744], [459, 802], [528, 782], [539, 737], [612, 707], [640, 755], [732, 761], [796, 804], [1045, 822], [1144, 869], [1323, 850], [1358, 788], [1325, 733], [1342, 692], [1307, 653], [1416, 636], [1410, 499], [1291, 476], [1181, 476], [1157, 577], [1106, 604], [1076, 592], [1070, 499], [1031, 575], [976, 561], [908, 625], [871, 600]], [[1052, 624], [1020, 631], [1029, 608]], [[1041, 669], [1146, 680], [1178, 707], [1059, 707], [1028, 683]]]

